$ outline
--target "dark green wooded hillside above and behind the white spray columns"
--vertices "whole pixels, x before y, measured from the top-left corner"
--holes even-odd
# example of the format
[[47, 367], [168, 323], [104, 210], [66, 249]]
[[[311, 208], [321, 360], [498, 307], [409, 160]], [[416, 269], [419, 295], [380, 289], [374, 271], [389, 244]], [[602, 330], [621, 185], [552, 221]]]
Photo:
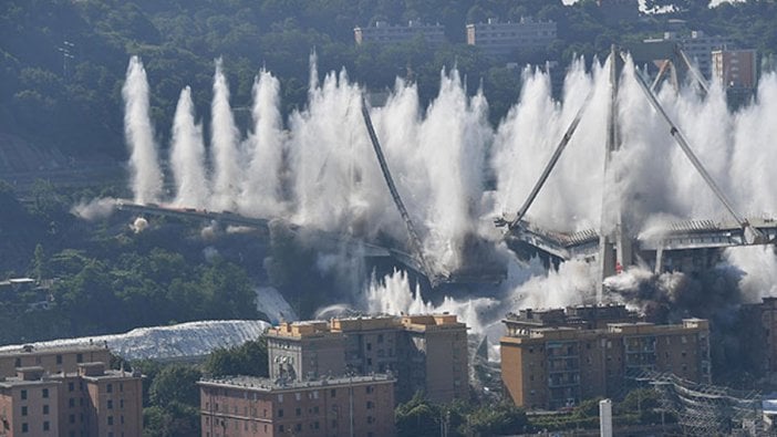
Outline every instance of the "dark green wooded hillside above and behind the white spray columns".
[[[441, 70], [455, 65], [469, 92], [483, 86], [496, 122], [516, 102], [521, 77], [464, 43], [466, 23], [489, 17], [558, 23], [557, 41], [547, 51], [515, 53], [518, 64], [557, 61], [563, 67], [576, 55], [590, 61], [611, 43], [660, 34], [672, 18], [685, 20], [687, 30], [775, 53], [775, 1], [706, 3], [650, 0], [649, 8], [670, 4], [675, 12], [608, 23], [594, 0], [9, 0], [0, 4], [0, 133], [72, 156], [124, 159], [121, 89], [135, 54], [148, 73], [160, 139], [169, 135], [166, 126], [186, 85], [208, 119], [217, 58], [224, 58], [234, 107], [249, 105], [253, 77], [266, 67], [281, 81], [283, 114], [300, 108], [312, 51], [319, 74], [346, 69], [352, 81], [373, 90], [405, 77], [417, 83], [424, 102], [436, 94]], [[444, 24], [448, 43], [432, 49], [423, 40], [391, 46], [353, 41], [356, 25], [411, 19]]]

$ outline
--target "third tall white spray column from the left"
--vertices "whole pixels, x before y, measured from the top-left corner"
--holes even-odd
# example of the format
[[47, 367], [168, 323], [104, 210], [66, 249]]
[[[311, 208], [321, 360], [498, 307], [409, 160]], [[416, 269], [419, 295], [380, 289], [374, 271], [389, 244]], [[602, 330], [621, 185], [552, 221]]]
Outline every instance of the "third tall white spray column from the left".
[[214, 188], [210, 208], [234, 210], [242, 183], [241, 156], [238, 150], [240, 133], [229, 106], [229, 85], [221, 69], [221, 59], [216, 60], [214, 75], [214, 100], [210, 110], [210, 153], [214, 166]]

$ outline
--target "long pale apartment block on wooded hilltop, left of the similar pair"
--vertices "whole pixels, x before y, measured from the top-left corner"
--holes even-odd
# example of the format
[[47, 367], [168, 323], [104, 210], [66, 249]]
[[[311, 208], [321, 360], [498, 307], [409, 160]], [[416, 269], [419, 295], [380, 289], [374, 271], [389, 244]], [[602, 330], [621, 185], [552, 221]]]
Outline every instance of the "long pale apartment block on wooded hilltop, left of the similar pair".
[[353, 37], [359, 45], [365, 42], [397, 44], [417, 37], [423, 38], [431, 45], [439, 45], [446, 41], [444, 25], [426, 24], [417, 20], [408, 21], [407, 25], [391, 25], [385, 21], [376, 21], [375, 25], [354, 28]]

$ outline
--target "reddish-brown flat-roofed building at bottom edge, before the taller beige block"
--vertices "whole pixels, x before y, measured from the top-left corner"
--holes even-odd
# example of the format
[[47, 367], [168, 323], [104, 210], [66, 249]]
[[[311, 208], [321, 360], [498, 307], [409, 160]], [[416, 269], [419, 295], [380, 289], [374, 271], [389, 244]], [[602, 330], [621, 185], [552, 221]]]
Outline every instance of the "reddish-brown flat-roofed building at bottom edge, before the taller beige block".
[[204, 379], [201, 436], [392, 436], [394, 382], [387, 375]]

